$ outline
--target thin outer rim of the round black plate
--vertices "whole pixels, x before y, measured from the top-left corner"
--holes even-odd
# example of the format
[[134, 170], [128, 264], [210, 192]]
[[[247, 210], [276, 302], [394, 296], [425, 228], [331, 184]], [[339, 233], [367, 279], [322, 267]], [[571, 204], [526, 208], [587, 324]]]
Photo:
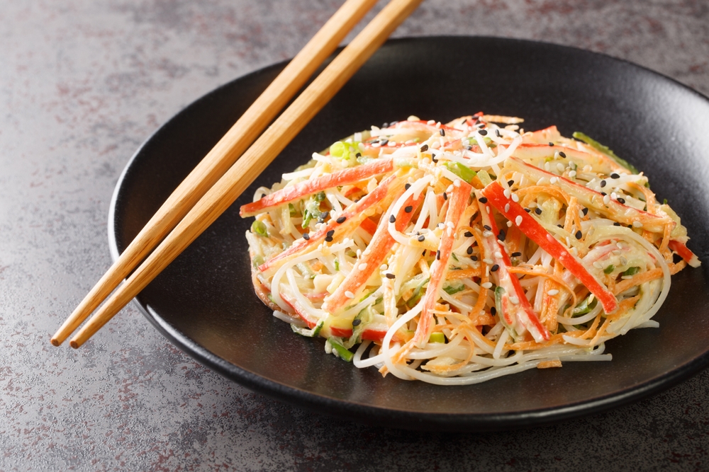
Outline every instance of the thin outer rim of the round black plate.
[[[709, 97], [703, 95], [699, 91], [682, 84], [680, 81], [661, 74], [660, 72], [649, 69], [639, 64], [630, 62], [627, 59], [610, 56], [603, 52], [595, 52], [585, 50], [581, 47], [559, 45], [553, 42], [544, 42], [537, 40], [526, 40], [519, 38], [503, 38], [498, 36], [486, 35], [435, 35], [435, 36], [407, 36], [403, 38], [393, 38], [386, 41], [385, 45], [406, 42], [435, 42], [437, 40], [450, 40], [451, 38], [459, 39], [478, 39], [478, 40], [493, 40], [500, 42], [517, 42], [526, 45], [537, 45], [542, 47], [557, 47], [562, 50], [574, 50], [576, 54], [596, 54], [610, 59], [613, 62], [620, 62], [635, 69], [643, 71], [645, 74], [650, 74], [659, 79], [670, 81], [674, 86], [679, 86], [683, 91], [691, 93], [700, 100], [705, 100], [709, 103]], [[342, 47], [338, 48], [340, 52]], [[177, 113], [172, 115], [169, 120], [164, 122], [160, 127], [155, 129], [145, 141], [138, 146], [133, 156], [128, 159], [123, 171], [118, 177], [116, 186], [111, 195], [111, 202], [108, 208], [108, 249], [113, 262], [118, 258], [118, 241], [116, 240], [116, 203], [119, 200], [121, 187], [126, 175], [131, 166], [140, 154], [147, 143], [152, 139], [159, 137], [164, 129], [176, 119], [176, 117], [186, 110], [189, 110], [193, 105], [200, 103], [203, 100], [208, 100], [213, 94], [219, 93], [223, 88], [232, 86], [235, 81], [242, 81], [258, 74], [264, 74], [274, 69], [280, 69], [289, 62], [285, 61], [270, 64], [266, 67], [255, 69], [247, 74], [235, 77], [234, 79], [225, 82], [224, 84], [211, 89], [204, 93], [199, 98], [192, 100]], [[155, 326], [155, 328], [164, 335], [167, 340], [178, 347], [182, 352], [195, 359], [200, 364], [213, 369], [218, 374], [225, 378], [235, 381], [236, 383], [248, 388], [257, 393], [264, 394], [278, 401], [285, 401], [301, 408], [307, 408], [311, 411], [316, 411], [325, 415], [330, 415], [336, 418], [347, 418], [354, 422], [360, 422], [368, 425], [380, 425], [383, 419], [397, 420], [396, 427], [398, 429], [407, 430], [436, 430], [449, 432], [475, 432], [475, 431], [492, 431], [492, 430], [515, 430], [526, 427], [537, 427], [550, 425], [555, 422], [580, 418], [581, 416], [593, 415], [601, 413], [612, 408], [617, 408], [628, 403], [639, 401], [642, 398], [651, 396], [654, 393], [667, 390], [677, 384], [685, 381], [691, 376], [701, 372], [709, 366], [709, 349], [705, 352], [693, 357], [690, 362], [686, 362], [669, 372], [665, 372], [657, 377], [649, 379], [642, 384], [637, 384], [630, 388], [624, 388], [614, 393], [608, 393], [605, 396], [593, 398], [587, 401], [579, 401], [575, 403], [566, 403], [562, 406], [538, 408], [535, 410], [523, 410], [503, 413], [440, 413], [440, 412], [425, 412], [406, 410], [405, 408], [383, 408], [367, 403], [357, 401], [347, 401], [340, 398], [332, 398], [311, 391], [306, 391], [300, 388], [279, 384], [277, 381], [267, 379], [255, 372], [251, 372], [236, 364], [232, 364], [227, 360], [213, 354], [211, 351], [196, 343], [180, 330], [165, 321], [157, 312], [150, 309], [150, 306], [143, 306], [139, 300], [140, 295], [133, 299], [134, 306], [143, 313], [143, 316]], [[373, 419], [372, 417], [376, 418]], [[392, 427], [391, 425], [389, 427]]]

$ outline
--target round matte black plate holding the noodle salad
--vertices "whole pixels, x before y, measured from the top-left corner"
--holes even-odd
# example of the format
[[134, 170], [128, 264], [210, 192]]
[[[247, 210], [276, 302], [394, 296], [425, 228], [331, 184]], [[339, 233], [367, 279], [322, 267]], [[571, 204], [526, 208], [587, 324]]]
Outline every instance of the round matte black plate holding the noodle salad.
[[[180, 180], [284, 64], [237, 79], [182, 110], [140, 147], [118, 182], [109, 239], [122, 251]], [[412, 429], [493, 430], [573, 418], [668, 388], [709, 363], [704, 268], [674, 277], [654, 319], [607, 343], [613, 362], [567, 363], [474, 386], [382, 378], [323, 352], [272, 316], [252, 290], [238, 216], [259, 185], [369, 125], [408, 115], [446, 121], [484, 110], [557, 125], [608, 144], [649, 175], [706, 258], [709, 101], [633, 64], [570, 47], [499, 38], [392, 40], [218, 219], [138, 297], [178, 347], [252, 390], [340, 418]]]

